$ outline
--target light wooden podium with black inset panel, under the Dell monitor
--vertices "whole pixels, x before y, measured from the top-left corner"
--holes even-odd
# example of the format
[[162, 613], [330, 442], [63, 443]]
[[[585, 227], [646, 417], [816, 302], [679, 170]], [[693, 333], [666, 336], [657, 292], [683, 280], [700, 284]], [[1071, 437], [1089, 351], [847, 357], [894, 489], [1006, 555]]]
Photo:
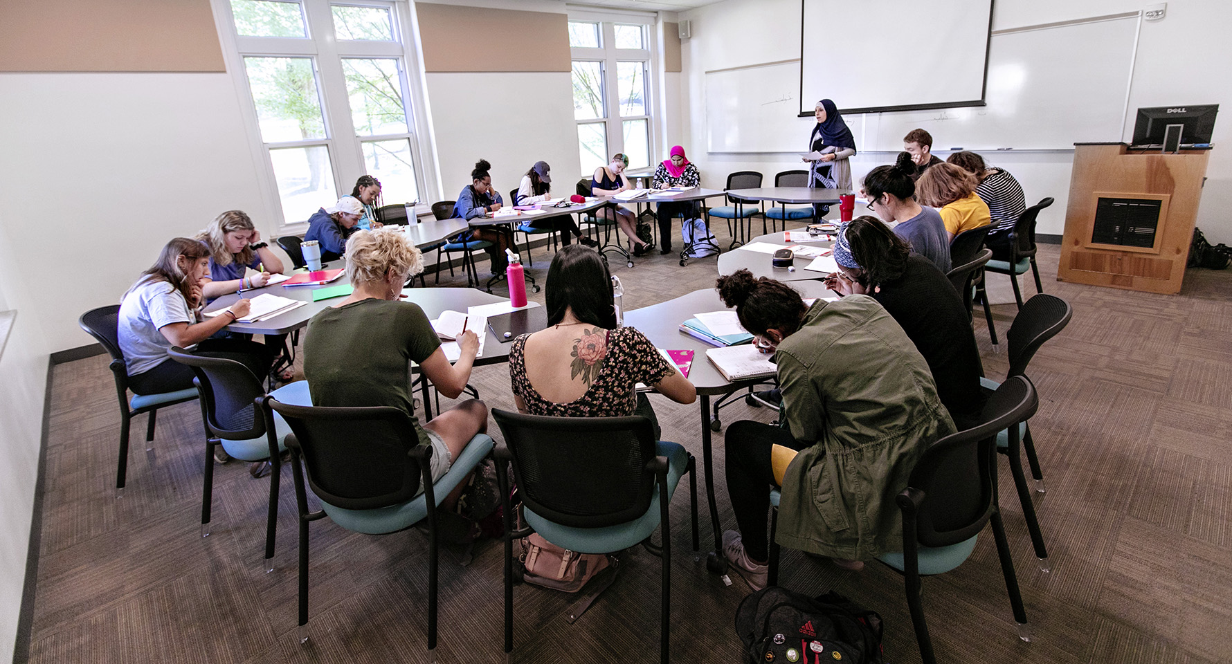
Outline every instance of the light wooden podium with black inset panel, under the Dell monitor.
[[1209, 154], [1076, 143], [1057, 280], [1179, 293]]

